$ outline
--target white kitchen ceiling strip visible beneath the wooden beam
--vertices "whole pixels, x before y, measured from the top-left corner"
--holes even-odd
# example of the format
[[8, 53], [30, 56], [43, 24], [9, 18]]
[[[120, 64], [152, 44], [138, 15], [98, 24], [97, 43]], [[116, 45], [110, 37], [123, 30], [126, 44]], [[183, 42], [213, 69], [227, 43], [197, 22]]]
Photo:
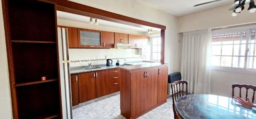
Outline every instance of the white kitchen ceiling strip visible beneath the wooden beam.
[[[78, 22], [84, 22], [84, 23], [89, 23], [89, 21], [90, 21], [90, 17], [67, 13], [67, 12], [62, 12], [62, 11], [57, 11], [57, 18], [78, 21]], [[94, 21], [94, 19], [93, 19], [93, 21]], [[108, 26], [108, 27], [115, 27], [115, 28], [121, 28], [121, 29], [135, 30], [138, 32], [147, 32], [147, 29], [152, 29], [154, 31], [160, 31], [160, 29], [157, 29], [157, 28], [151, 28], [151, 27], [140, 28], [140, 27], [124, 25], [122, 23], [117, 23], [117, 22], [112, 22], [112, 21], [107, 21], [107, 20], [102, 20], [102, 19], [97, 19], [97, 21], [99, 22], [100, 26]]]

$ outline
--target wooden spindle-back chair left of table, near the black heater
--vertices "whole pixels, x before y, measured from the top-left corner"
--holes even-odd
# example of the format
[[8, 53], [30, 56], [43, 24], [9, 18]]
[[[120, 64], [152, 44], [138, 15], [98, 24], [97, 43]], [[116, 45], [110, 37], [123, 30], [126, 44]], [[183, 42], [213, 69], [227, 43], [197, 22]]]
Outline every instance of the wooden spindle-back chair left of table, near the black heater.
[[[173, 110], [174, 110], [174, 118], [180, 118], [175, 110], [175, 102], [182, 96], [188, 95], [187, 91], [187, 81], [175, 81], [172, 84], [170, 84], [172, 88], [172, 98], [173, 98]], [[184, 85], [186, 86], [186, 89], [184, 91]], [[182, 89], [181, 89], [182, 88]]]

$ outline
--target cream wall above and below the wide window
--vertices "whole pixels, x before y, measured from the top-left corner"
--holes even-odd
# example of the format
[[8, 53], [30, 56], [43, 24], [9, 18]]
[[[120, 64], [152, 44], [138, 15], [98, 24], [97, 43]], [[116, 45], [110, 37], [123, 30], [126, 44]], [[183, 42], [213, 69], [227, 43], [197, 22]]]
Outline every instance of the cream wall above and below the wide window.
[[[242, 11], [236, 17], [231, 16], [232, 12], [228, 11], [230, 6], [227, 4], [180, 16], [179, 32], [256, 22], [256, 13], [249, 13], [247, 10]], [[247, 8], [246, 6], [245, 9]], [[256, 85], [256, 75], [211, 70], [211, 92], [213, 94], [231, 97], [231, 85], [235, 83]], [[235, 91], [238, 92], [238, 90]]]

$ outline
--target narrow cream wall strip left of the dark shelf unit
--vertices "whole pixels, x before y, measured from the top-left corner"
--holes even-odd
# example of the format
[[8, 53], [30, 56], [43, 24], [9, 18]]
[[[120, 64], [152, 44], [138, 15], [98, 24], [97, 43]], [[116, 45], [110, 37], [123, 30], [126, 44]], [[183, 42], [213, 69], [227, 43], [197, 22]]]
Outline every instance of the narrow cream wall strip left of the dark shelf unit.
[[5, 43], [2, 2], [0, 2], [0, 118], [12, 118], [11, 94]]

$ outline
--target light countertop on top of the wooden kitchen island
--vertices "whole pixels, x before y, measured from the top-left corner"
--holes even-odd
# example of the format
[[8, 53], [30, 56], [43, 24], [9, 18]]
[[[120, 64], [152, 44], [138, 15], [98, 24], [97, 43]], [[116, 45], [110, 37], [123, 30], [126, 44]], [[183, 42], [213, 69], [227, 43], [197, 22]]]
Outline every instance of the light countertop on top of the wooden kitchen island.
[[146, 64], [140, 64], [140, 65], [130, 65], [130, 66], [123, 66], [119, 67], [120, 69], [123, 70], [128, 70], [128, 71], [133, 71], [133, 70], [138, 70], [138, 69], [143, 69], [143, 68], [149, 68], [149, 67], [159, 67], [159, 66], [165, 66], [167, 64], [162, 64], [160, 62], [155, 62], [155, 63], [146, 63]]

